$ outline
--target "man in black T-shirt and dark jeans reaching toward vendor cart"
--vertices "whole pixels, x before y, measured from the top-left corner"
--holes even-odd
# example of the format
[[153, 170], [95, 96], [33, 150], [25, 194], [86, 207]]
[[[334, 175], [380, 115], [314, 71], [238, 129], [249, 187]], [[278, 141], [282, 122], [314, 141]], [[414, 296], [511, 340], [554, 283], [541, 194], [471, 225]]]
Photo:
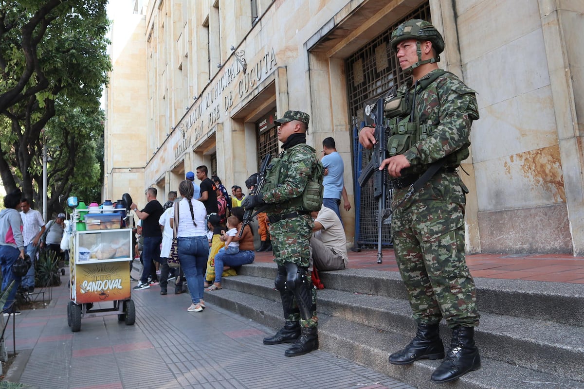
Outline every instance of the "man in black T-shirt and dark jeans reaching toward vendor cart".
[[154, 265], [152, 261], [160, 260], [162, 231], [158, 225], [158, 219], [160, 219], [164, 209], [162, 209], [162, 205], [158, 202], [156, 196], [156, 188], [148, 188], [146, 191], [146, 200], [148, 201], [148, 204], [146, 204], [142, 211], [138, 211], [138, 206], [134, 202], [130, 205], [130, 209], [133, 209], [136, 216], [142, 220], [142, 237], [144, 237], [144, 247], [142, 248], [142, 262], [144, 262], [144, 268], [142, 268], [140, 282], [138, 282], [138, 285], [134, 286], [134, 290], [150, 288], [148, 275], [150, 275], [152, 265]]

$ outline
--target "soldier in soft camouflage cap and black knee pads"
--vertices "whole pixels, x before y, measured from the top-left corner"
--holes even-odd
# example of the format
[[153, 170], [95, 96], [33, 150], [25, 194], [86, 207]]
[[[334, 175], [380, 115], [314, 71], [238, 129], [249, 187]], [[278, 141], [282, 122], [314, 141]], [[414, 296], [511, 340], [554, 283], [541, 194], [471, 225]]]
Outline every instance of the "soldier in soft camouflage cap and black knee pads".
[[[308, 247], [314, 221], [301, 200], [320, 164], [315, 150], [306, 144], [309, 120], [304, 112], [286, 111], [274, 121], [279, 126], [278, 139], [283, 142], [284, 151], [277, 162], [272, 160], [263, 193], [249, 195], [242, 202], [246, 208], [267, 206], [274, 261], [278, 265], [274, 283], [280, 292], [286, 324], [272, 337], [263, 339], [263, 343], [293, 343], [286, 356], [318, 349], [317, 292], [308, 271]], [[319, 204], [322, 204], [322, 191], [320, 196]]]

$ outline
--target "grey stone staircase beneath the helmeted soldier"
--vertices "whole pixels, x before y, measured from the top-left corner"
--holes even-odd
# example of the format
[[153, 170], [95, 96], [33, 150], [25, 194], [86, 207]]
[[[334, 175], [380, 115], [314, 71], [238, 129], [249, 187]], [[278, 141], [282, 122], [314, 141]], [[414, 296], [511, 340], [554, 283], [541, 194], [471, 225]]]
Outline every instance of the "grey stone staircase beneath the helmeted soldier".
[[[205, 293], [205, 300], [280, 328], [280, 295], [273, 289], [276, 265], [245, 265], [238, 273], [223, 278], [223, 289]], [[326, 287], [318, 291], [322, 350], [424, 389], [584, 388], [582, 285], [475, 279], [481, 312], [475, 341], [482, 369], [439, 385], [429, 378], [440, 360], [420, 360], [408, 366], [387, 361], [391, 352], [415, 335], [399, 274], [345, 269], [322, 272], [321, 279]], [[448, 346], [450, 331], [444, 323], [440, 331]]]

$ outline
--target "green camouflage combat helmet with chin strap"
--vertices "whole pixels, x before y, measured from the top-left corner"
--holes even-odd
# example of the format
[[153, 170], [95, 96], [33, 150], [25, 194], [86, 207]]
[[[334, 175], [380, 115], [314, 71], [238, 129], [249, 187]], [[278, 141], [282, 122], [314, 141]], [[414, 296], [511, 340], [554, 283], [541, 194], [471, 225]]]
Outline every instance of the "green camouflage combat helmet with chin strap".
[[[418, 62], [404, 69], [404, 72], [411, 73], [413, 69], [423, 64], [433, 64], [440, 61], [440, 53], [444, 51], [444, 39], [431, 23], [422, 19], [412, 19], [399, 24], [398, 28], [391, 34], [391, 47], [397, 52], [397, 45], [401, 41], [408, 39], [416, 40], [416, 48], [418, 52]], [[422, 61], [422, 50], [420, 49], [420, 41], [429, 40], [432, 42], [432, 48], [436, 50], [436, 58], [426, 59]]]

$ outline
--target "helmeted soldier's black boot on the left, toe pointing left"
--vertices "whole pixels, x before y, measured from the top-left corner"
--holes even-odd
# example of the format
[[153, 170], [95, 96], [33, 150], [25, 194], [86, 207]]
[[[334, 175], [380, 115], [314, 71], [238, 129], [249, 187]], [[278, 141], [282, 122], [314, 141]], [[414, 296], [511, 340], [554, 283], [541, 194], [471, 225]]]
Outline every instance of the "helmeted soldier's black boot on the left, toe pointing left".
[[390, 355], [390, 363], [408, 365], [408, 363], [424, 358], [444, 358], [444, 345], [438, 334], [438, 324], [418, 324], [416, 337], [406, 348]]

